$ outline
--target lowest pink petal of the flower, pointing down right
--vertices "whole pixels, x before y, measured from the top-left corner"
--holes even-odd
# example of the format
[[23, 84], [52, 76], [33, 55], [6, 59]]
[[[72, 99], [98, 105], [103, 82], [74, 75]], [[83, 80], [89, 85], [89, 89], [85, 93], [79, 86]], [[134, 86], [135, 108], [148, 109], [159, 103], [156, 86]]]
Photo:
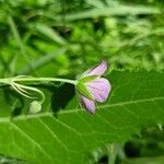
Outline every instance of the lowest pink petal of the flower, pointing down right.
[[94, 101], [91, 101], [81, 94], [79, 95], [79, 98], [81, 106], [85, 108], [89, 113], [94, 114], [96, 108]]

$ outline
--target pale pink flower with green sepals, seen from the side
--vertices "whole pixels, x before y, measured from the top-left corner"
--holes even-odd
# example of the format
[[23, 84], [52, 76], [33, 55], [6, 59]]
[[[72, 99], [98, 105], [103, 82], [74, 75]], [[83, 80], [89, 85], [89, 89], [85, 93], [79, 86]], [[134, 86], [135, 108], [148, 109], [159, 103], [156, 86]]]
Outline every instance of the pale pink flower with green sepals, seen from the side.
[[77, 84], [80, 104], [91, 114], [95, 113], [95, 103], [104, 103], [109, 95], [110, 83], [107, 79], [101, 78], [106, 70], [107, 63], [106, 61], [102, 61], [99, 65], [84, 72]]

